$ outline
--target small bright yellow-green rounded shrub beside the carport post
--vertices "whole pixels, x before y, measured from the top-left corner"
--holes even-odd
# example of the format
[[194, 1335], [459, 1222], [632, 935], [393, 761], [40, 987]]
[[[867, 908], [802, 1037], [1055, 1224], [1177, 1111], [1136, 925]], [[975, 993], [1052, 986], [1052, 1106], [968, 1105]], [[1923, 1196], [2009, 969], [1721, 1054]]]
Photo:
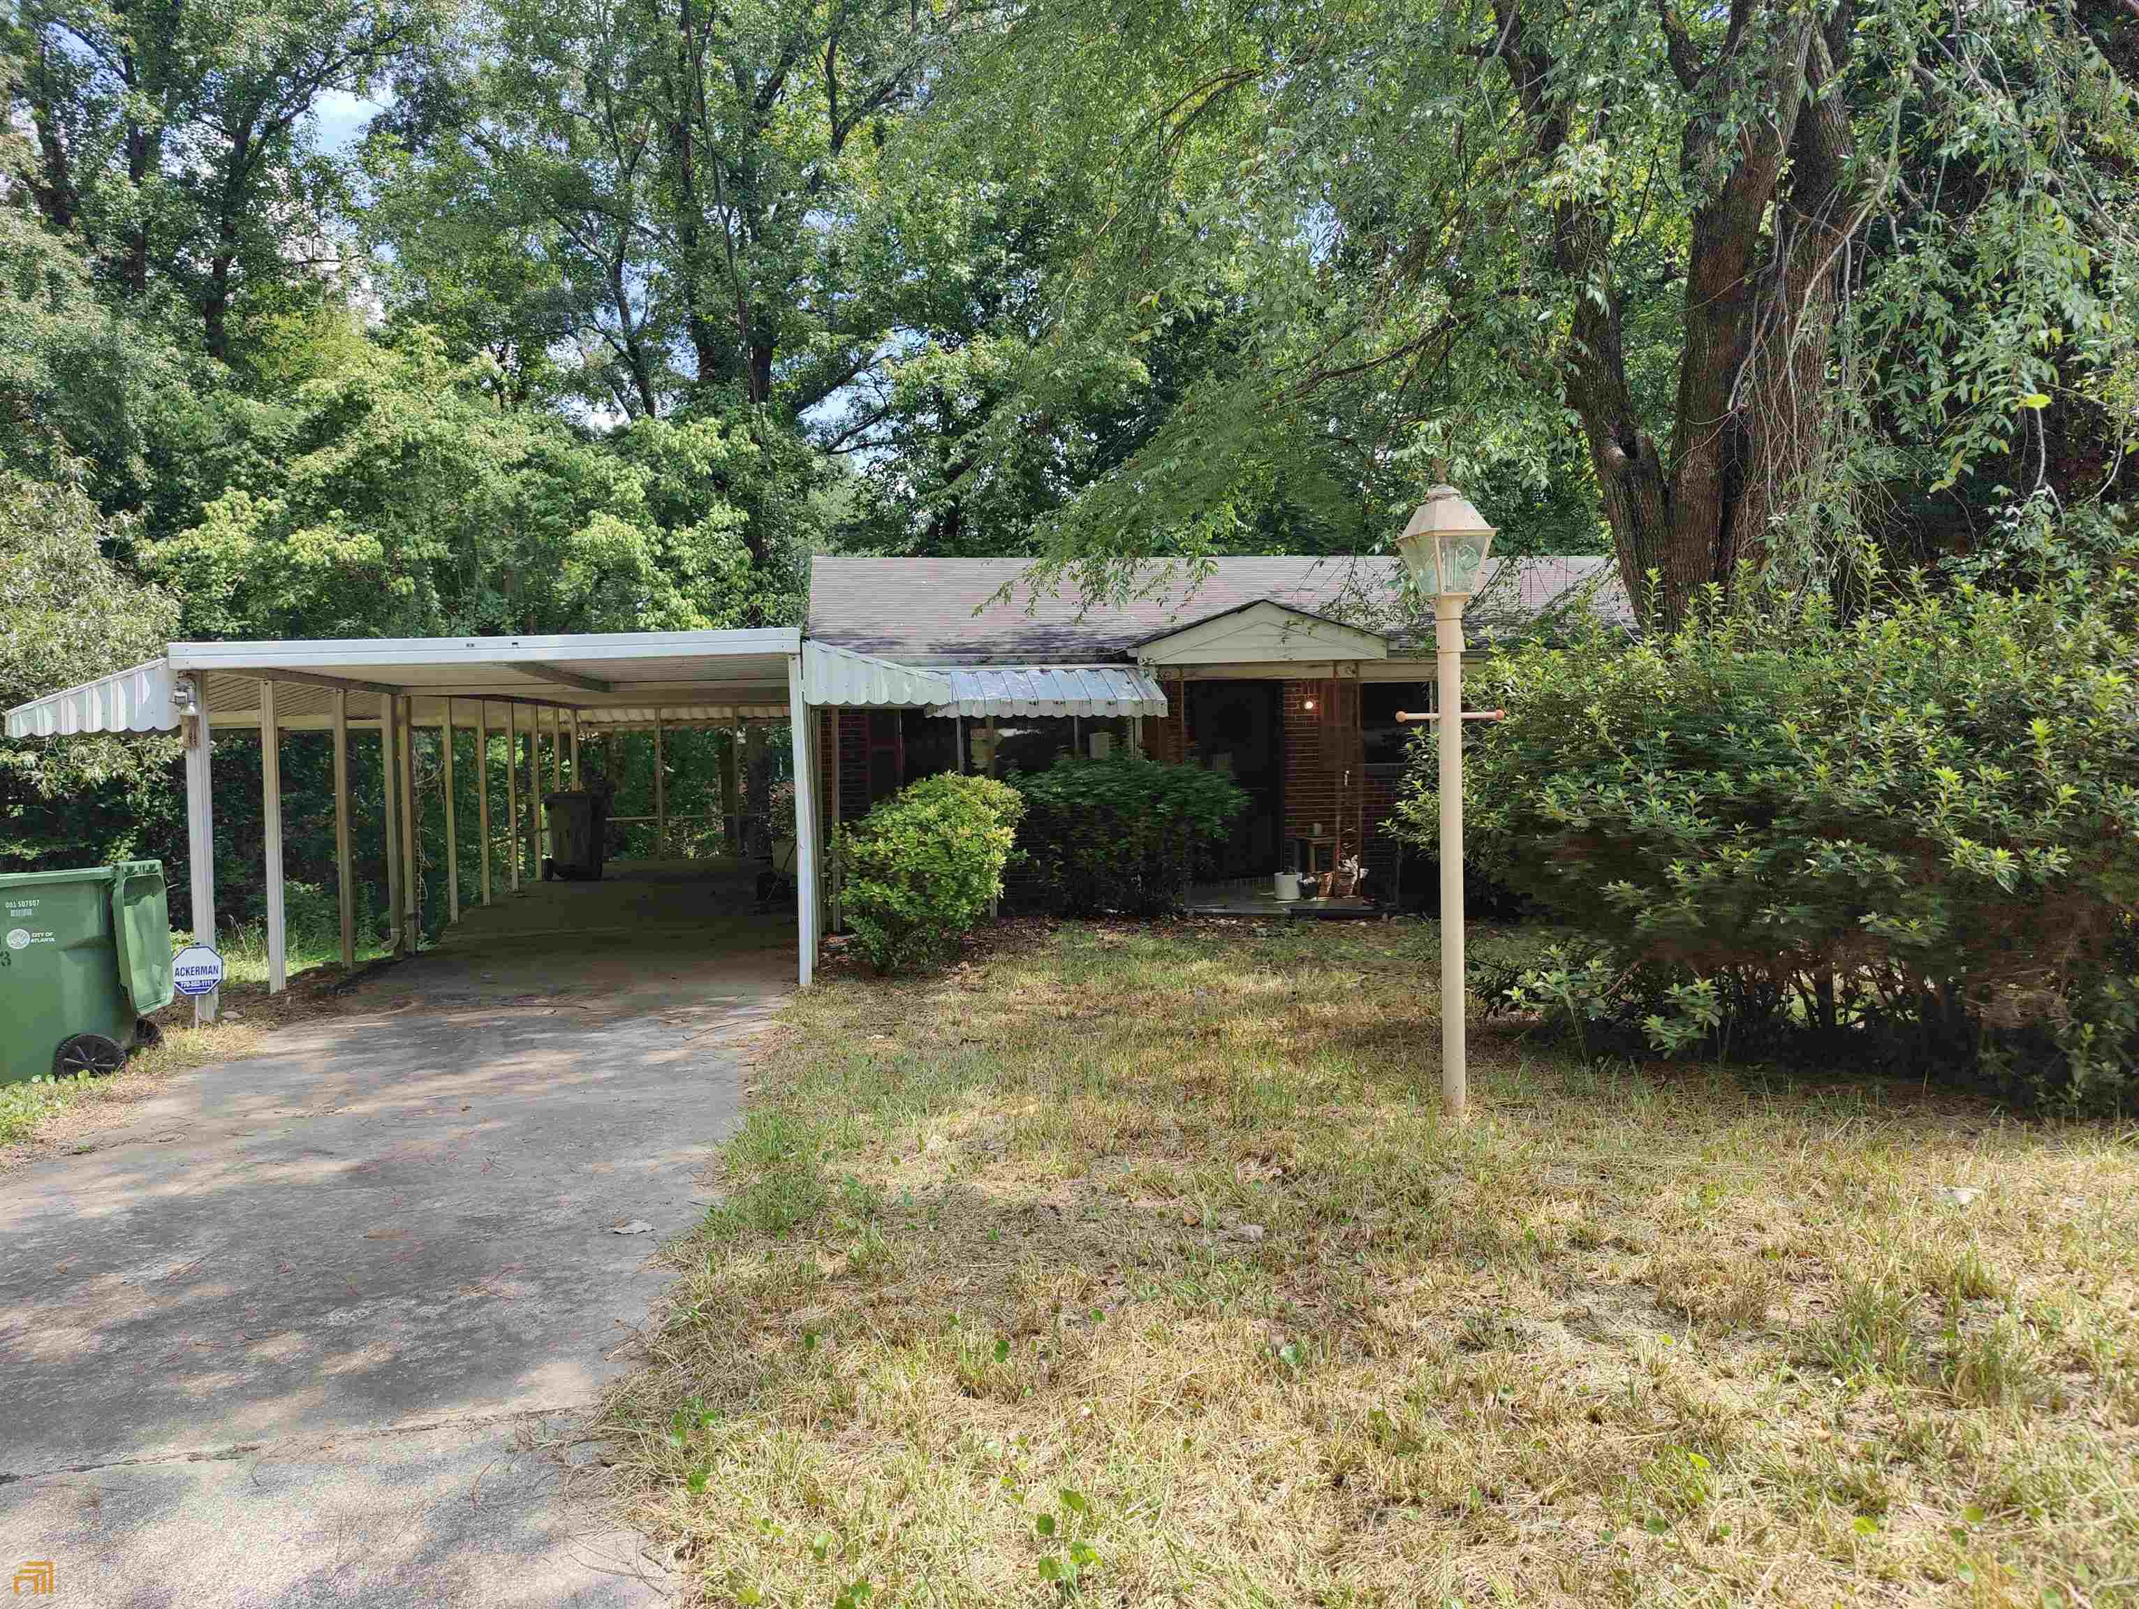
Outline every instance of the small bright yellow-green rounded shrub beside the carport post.
[[1003, 892], [1022, 802], [988, 777], [924, 777], [841, 832], [847, 929], [877, 971], [941, 965]]

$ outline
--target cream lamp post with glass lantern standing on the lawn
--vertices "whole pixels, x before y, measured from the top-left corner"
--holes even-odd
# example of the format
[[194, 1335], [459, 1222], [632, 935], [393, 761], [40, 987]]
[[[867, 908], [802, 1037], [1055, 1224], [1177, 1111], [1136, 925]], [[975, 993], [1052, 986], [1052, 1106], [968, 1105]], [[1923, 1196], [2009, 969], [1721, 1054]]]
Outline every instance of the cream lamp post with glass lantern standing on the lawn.
[[1463, 1121], [1463, 606], [1478, 591], [1489, 526], [1452, 486], [1435, 486], [1397, 537], [1420, 588], [1433, 593], [1442, 745], [1442, 1104]]

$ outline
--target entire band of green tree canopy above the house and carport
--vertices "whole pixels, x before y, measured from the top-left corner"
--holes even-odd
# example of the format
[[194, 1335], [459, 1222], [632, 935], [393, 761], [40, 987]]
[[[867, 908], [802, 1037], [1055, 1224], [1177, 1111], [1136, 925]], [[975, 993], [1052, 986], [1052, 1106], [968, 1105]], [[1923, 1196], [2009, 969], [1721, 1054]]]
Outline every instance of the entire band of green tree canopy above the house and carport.
[[2135, 75], [2124, 0], [24, 0], [9, 518], [203, 635], [1104, 593], [1437, 477], [1658, 627], [2086, 586]]

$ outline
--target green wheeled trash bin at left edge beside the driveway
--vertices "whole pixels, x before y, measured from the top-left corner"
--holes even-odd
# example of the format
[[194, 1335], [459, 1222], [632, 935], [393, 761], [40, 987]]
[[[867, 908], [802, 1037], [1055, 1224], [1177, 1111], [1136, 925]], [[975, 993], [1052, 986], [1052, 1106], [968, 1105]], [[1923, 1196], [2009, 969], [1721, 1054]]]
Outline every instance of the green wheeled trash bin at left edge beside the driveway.
[[118, 1072], [169, 1003], [160, 860], [0, 875], [0, 1083]]

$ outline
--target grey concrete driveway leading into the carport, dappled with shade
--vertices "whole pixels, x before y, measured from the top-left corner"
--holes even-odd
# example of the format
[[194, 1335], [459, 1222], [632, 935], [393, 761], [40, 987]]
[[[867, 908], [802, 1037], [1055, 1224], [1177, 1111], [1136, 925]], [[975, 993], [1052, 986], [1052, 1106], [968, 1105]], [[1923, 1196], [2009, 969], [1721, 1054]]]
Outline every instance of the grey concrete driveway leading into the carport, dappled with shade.
[[56, 1605], [665, 1596], [569, 1466], [794, 948], [665, 926], [708, 897], [680, 879], [603, 888], [471, 918], [349, 1014], [0, 1177], [0, 1579], [51, 1560]]

